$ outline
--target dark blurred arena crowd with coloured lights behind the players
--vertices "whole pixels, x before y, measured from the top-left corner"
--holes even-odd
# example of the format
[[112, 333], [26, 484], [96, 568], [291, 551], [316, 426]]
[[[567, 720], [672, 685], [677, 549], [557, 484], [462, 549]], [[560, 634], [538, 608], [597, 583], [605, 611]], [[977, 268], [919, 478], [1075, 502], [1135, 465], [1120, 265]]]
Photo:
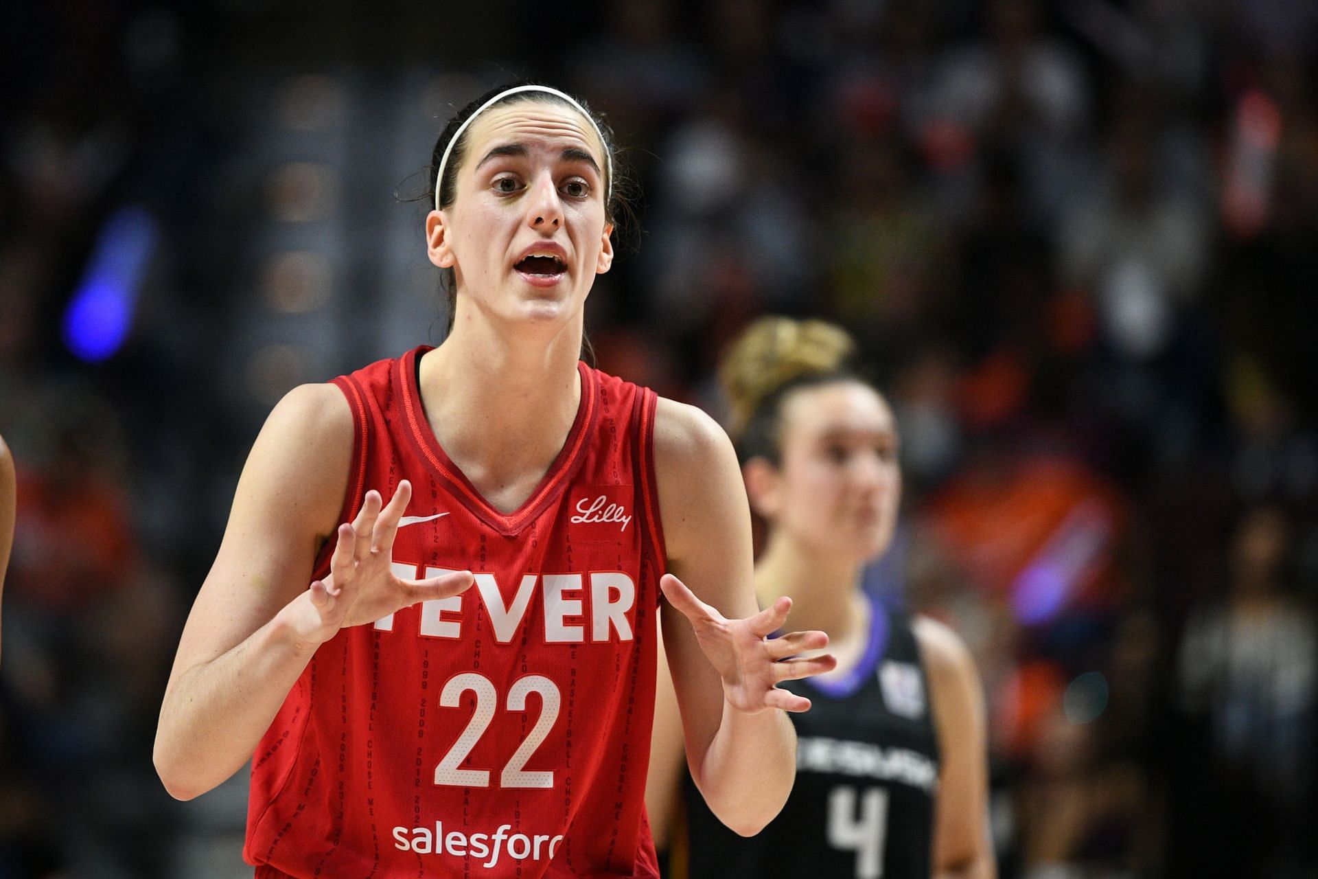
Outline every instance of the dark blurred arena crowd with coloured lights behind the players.
[[250, 875], [245, 778], [152, 768], [183, 615], [274, 401], [440, 340], [424, 167], [523, 75], [642, 194], [601, 368], [720, 412], [759, 314], [863, 341], [871, 585], [978, 658], [1002, 876], [1318, 875], [1315, 47], [1307, 0], [0, 4], [0, 876]]

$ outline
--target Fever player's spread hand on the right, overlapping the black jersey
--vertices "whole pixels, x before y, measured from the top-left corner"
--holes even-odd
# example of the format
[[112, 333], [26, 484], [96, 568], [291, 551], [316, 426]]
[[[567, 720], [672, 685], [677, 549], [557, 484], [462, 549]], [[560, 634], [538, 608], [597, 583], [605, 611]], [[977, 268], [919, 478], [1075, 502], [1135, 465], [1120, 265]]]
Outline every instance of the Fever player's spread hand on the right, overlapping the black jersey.
[[787, 622], [792, 600], [786, 596], [753, 617], [728, 619], [671, 573], [659, 580], [659, 588], [668, 604], [691, 622], [700, 648], [724, 680], [724, 698], [739, 712], [755, 714], [770, 708], [809, 710], [811, 700], [776, 685], [784, 680], [820, 675], [837, 666], [837, 659], [829, 654], [789, 659], [826, 647], [828, 634], [822, 631], [793, 631], [782, 638], [768, 638]]

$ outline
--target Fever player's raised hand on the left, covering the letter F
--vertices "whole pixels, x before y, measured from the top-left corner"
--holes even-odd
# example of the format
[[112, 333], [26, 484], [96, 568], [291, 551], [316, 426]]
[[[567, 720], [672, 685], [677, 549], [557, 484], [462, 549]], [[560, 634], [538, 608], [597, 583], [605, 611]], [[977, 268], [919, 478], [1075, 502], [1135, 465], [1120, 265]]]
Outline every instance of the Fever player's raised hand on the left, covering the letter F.
[[320, 644], [347, 626], [374, 622], [419, 601], [456, 596], [472, 585], [471, 571], [426, 580], [403, 580], [393, 572], [394, 535], [410, 499], [407, 480], [384, 507], [380, 492], [372, 489], [357, 518], [339, 526], [330, 576], [314, 581], [279, 611], [299, 640]]

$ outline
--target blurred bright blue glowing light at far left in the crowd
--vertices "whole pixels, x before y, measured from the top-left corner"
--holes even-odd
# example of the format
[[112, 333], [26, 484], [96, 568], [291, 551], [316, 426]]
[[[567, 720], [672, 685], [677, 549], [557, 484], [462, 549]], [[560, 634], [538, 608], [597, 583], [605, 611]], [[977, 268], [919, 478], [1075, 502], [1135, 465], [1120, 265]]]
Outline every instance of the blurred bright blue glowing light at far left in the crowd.
[[157, 239], [156, 219], [145, 208], [123, 207], [105, 221], [65, 310], [65, 344], [75, 356], [101, 362], [124, 344]]

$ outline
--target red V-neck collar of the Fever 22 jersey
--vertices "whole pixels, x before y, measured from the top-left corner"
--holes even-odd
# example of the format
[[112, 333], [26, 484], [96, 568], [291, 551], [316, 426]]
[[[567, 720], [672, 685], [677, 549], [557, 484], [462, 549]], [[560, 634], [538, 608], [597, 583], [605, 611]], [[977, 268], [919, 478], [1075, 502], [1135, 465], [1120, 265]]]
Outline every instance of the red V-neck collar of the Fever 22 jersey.
[[461, 469], [453, 464], [439, 444], [435, 431], [430, 427], [420, 401], [420, 386], [416, 382], [418, 364], [420, 356], [427, 351], [431, 351], [431, 347], [414, 348], [399, 357], [394, 365], [394, 386], [398, 387], [402, 397], [403, 418], [407, 422], [403, 430], [415, 444], [422, 460], [430, 465], [434, 474], [448, 486], [452, 496], [463, 506], [494, 531], [506, 536], [517, 535], [558, 498], [585, 459], [585, 438], [590, 434], [597, 410], [594, 372], [577, 361], [577, 374], [581, 377], [581, 402], [577, 405], [576, 419], [572, 422], [572, 430], [568, 431], [567, 441], [563, 443], [558, 457], [554, 459], [531, 496], [511, 513], [501, 513], [476, 490]]

